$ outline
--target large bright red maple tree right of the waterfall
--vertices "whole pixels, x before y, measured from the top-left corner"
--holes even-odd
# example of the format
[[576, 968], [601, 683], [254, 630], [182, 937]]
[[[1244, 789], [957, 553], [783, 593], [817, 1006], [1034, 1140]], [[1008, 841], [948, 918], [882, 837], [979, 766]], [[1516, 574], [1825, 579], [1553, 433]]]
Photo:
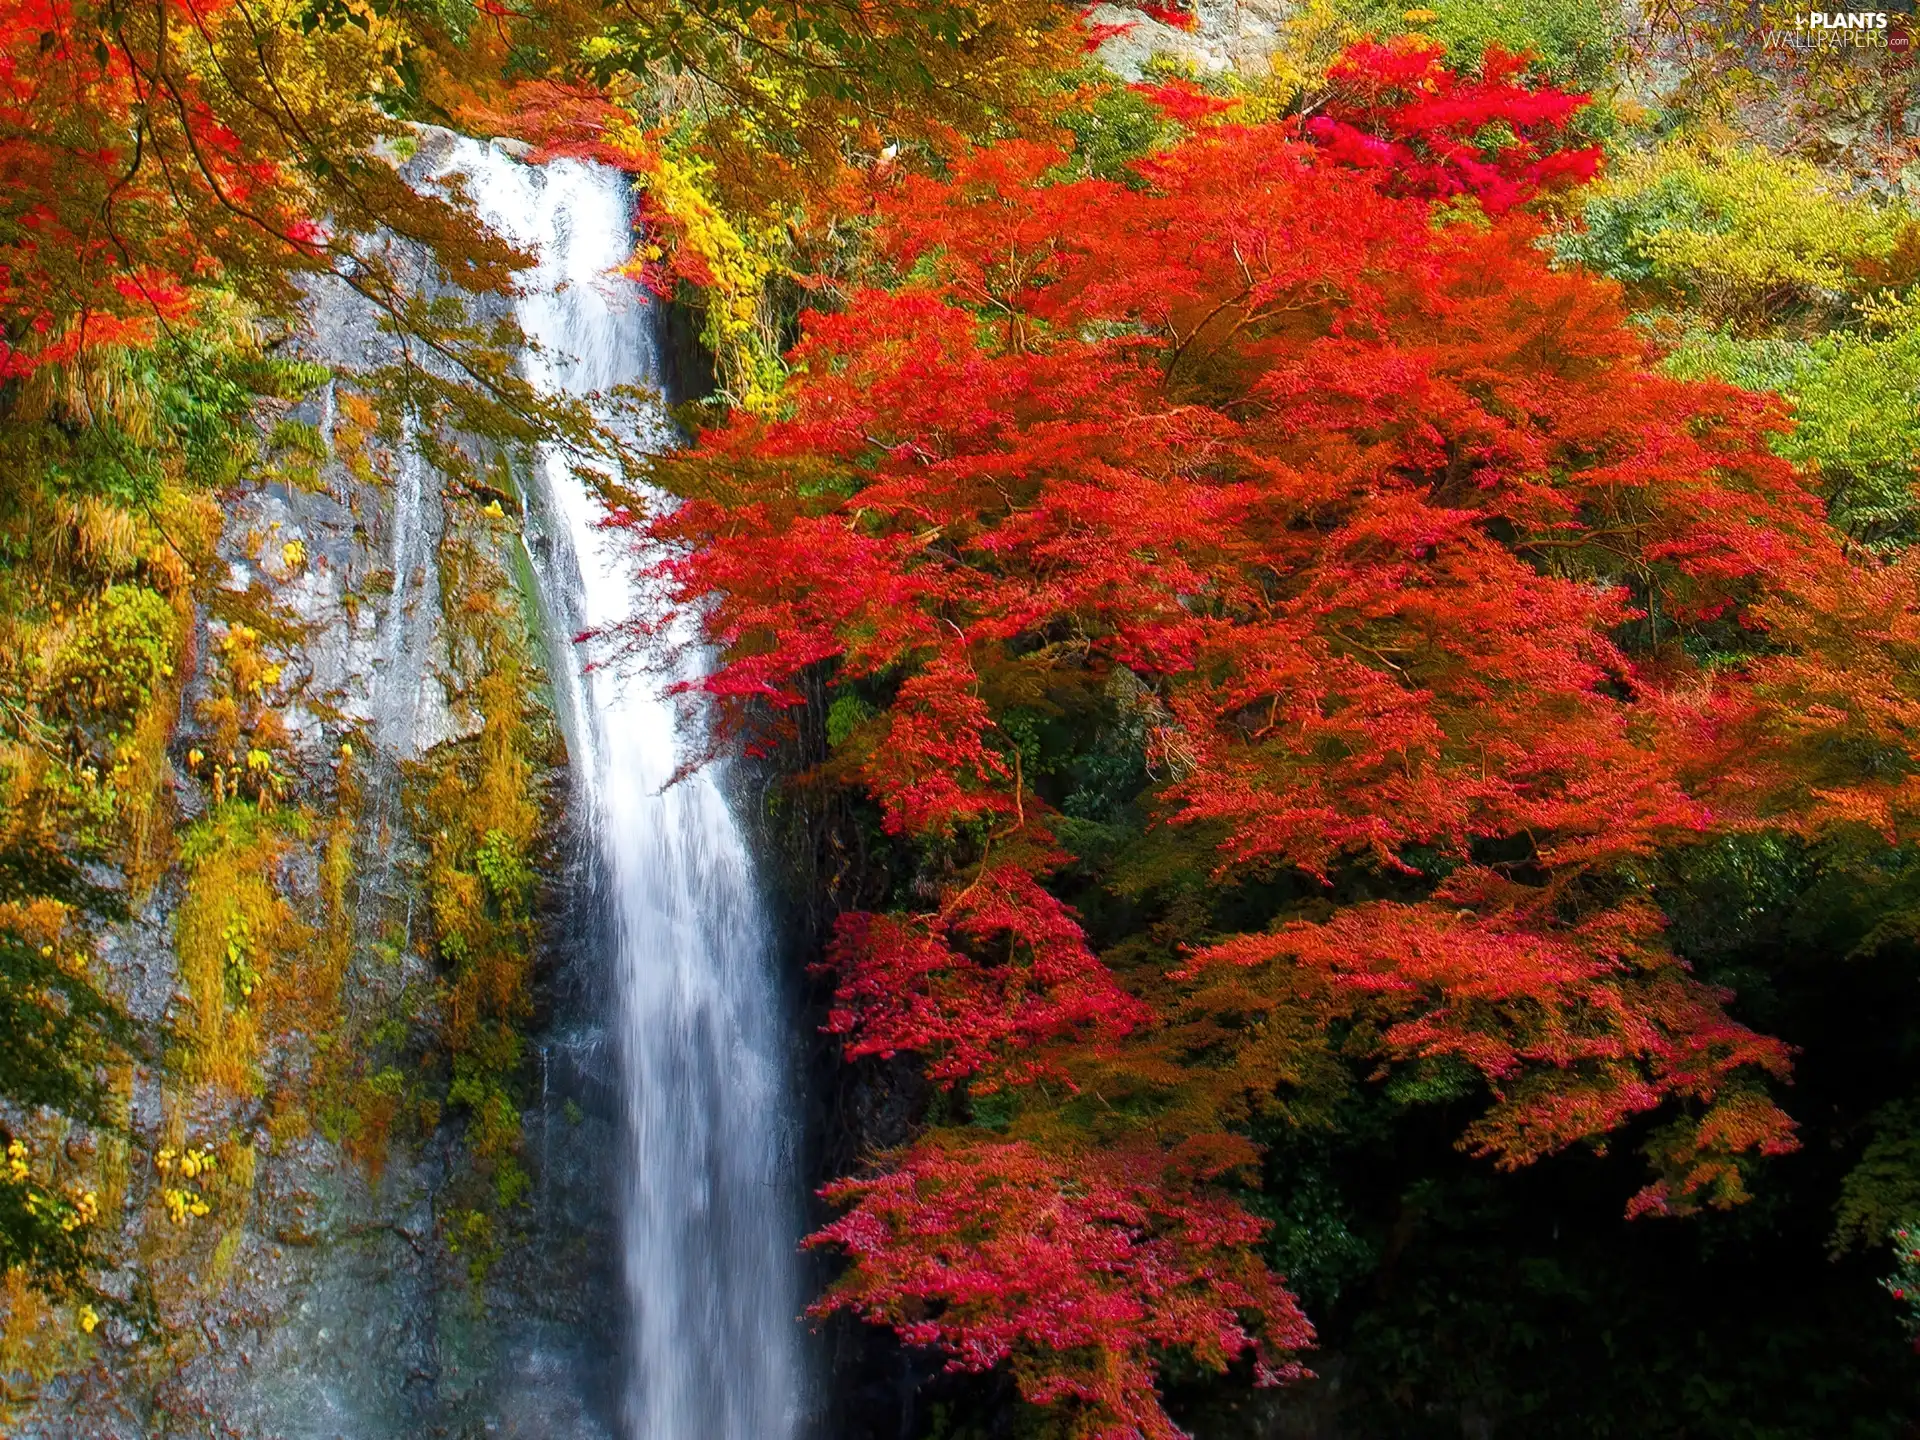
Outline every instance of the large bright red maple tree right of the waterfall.
[[[708, 689], [735, 718], [812, 676], [858, 697], [822, 778], [920, 847], [918, 900], [841, 920], [831, 1027], [1046, 1092], [1014, 1139], [935, 1131], [831, 1190], [824, 1304], [1010, 1359], [1100, 1436], [1173, 1432], [1150, 1346], [1271, 1371], [1306, 1342], [1231, 1183], [1313, 1035], [1478, 1077], [1463, 1144], [1503, 1165], [1663, 1112], [1634, 1210], [1732, 1204], [1741, 1158], [1793, 1144], [1784, 1046], [1690, 975], [1649, 868], [1814, 824], [1768, 735], [1803, 735], [1782, 707], [1830, 662], [1768, 651], [1847, 559], [1768, 449], [1780, 411], [1657, 374], [1617, 292], [1536, 244], [1517, 202], [1588, 163], [1542, 138], [1576, 100], [1498, 56], [1361, 71], [1384, 109], [1332, 121], [1396, 136], [1379, 165], [1219, 123], [1135, 188], [1025, 142], [900, 180], [876, 240], [906, 278], [810, 315], [783, 415], [668, 461], [689, 499], [655, 522]], [[1446, 140], [1492, 121], [1517, 150]], [[1444, 223], [1459, 192], [1494, 223]], [[1092, 952], [1016, 716], [1121, 678], [1213, 883], [1319, 899], [1158, 970]]]

